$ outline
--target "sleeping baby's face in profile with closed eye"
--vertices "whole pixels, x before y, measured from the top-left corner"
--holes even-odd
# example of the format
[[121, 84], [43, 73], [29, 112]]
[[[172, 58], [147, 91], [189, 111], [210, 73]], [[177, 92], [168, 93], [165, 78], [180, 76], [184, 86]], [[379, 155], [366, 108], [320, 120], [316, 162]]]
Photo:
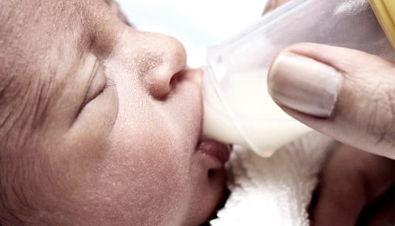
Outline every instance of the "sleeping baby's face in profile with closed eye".
[[0, 3], [5, 225], [196, 225], [221, 199], [201, 71], [106, 2]]

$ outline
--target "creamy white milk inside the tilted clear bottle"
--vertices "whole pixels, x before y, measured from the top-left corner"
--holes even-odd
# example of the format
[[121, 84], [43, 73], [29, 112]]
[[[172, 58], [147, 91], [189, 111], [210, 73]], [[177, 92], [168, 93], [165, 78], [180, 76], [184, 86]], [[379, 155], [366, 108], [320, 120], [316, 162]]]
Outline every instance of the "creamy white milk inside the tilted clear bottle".
[[239, 144], [269, 157], [282, 145], [310, 131], [273, 102], [266, 75], [267, 70], [226, 74], [218, 86], [225, 105], [212, 82], [204, 78], [204, 136]]

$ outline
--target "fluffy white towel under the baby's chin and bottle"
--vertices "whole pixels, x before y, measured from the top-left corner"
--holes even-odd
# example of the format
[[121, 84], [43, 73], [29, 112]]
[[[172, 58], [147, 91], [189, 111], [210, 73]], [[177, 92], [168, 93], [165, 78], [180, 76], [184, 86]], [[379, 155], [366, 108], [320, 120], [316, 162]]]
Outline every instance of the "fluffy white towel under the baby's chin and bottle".
[[231, 195], [211, 225], [309, 225], [311, 195], [334, 145], [312, 132], [271, 158], [234, 148], [228, 164]]

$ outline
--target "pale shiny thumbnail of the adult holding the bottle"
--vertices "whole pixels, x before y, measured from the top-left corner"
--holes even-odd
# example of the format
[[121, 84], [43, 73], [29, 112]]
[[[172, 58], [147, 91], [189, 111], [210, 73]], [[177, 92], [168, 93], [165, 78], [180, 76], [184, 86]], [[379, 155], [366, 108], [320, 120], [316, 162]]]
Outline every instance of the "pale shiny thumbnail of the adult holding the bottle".
[[303, 112], [328, 118], [338, 99], [342, 74], [333, 67], [305, 56], [286, 52], [273, 62], [268, 89], [275, 102]]

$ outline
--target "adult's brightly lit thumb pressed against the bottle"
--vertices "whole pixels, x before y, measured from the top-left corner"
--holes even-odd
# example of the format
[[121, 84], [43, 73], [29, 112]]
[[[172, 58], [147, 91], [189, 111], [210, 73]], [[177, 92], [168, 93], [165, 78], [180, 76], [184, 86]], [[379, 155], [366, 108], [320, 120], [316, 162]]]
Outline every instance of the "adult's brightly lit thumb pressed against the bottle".
[[302, 123], [395, 159], [395, 63], [357, 50], [297, 44], [273, 62], [268, 89]]

